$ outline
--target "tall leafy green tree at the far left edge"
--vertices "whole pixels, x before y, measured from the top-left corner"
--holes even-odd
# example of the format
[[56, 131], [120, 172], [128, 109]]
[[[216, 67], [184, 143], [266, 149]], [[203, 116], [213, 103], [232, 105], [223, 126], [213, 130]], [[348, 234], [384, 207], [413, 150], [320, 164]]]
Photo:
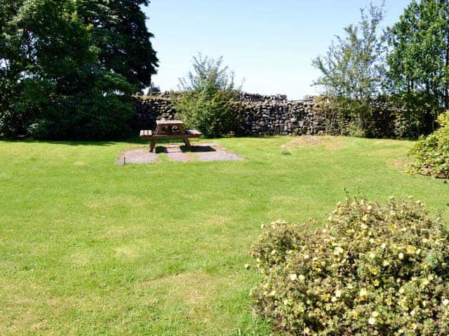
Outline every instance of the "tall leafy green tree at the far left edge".
[[55, 112], [68, 83], [72, 94], [69, 78], [95, 62], [95, 50], [72, 1], [10, 0], [0, 10], [0, 132], [22, 135]]

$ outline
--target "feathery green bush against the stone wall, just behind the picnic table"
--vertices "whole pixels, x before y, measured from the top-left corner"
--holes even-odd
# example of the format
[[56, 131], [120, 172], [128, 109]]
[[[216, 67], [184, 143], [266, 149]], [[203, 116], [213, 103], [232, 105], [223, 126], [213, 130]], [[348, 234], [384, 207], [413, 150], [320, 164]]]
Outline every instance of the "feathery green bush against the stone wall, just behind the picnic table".
[[187, 127], [197, 128], [206, 137], [220, 137], [239, 130], [239, 111], [231, 104], [238, 90], [234, 73], [222, 66], [222, 57], [193, 57], [194, 71], [180, 78], [181, 97], [176, 111]]

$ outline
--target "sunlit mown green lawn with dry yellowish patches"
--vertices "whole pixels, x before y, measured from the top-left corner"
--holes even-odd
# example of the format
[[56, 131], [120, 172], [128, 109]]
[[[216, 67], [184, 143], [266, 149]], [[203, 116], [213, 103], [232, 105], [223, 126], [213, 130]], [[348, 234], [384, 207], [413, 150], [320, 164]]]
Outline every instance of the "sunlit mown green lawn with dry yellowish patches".
[[279, 218], [327, 218], [358, 190], [449, 187], [401, 173], [409, 141], [218, 139], [246, 160], [119, 166], [133, 142], [0, 141], [0, 335], [269, 335], [253, 317], [250, 245]]

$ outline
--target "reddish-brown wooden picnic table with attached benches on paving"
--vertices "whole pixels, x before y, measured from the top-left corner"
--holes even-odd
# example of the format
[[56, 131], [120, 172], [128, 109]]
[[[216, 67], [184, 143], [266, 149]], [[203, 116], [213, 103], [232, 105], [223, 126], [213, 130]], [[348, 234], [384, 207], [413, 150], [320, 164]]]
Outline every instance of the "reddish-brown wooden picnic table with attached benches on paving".
[[192, 146], [190, 145], [189, 138], [198, 137], [201, 137], [201, 132], [197, 130], [185, 130], [184, 123], [181, 120], [157, 120], [154, 133], [152, 130], [140, 131], [140, 138], [152, 141], [149, 146], [150, 152], [154, 151], [158, 139], [182, 139], [185, 146], [190, 149]]

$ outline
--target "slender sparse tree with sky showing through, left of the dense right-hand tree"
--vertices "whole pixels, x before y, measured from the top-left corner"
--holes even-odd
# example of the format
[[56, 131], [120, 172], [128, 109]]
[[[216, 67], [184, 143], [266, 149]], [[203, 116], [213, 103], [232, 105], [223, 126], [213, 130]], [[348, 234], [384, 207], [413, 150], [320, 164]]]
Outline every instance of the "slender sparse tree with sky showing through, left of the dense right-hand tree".
[[335, 107], [353, 118], [354, 135], [364, 135], [371, 115], [370, 99], [380, 92], [382, 84], [385, 47], [378, 30], [383, 7], [371, 4], [368, 14], [361, 9], [361, 22], [345, 27], [346, 36], [336, 36], [327, 55], [312, 62], [322, 73], [315, 85], [322, 85], [327, 96], [335, 97]]

